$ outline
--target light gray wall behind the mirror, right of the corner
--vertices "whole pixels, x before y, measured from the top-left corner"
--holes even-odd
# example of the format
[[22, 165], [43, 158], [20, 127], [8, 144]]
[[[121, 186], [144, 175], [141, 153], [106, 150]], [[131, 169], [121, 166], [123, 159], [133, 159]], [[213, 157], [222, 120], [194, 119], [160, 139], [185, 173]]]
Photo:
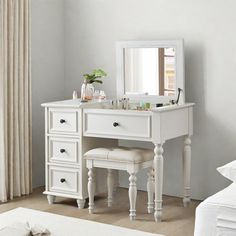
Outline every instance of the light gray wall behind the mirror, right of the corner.
[[[215, 170], [235, 159], [236, 22], [234, 0], [66, 0], [65, 95], [81, 75], [101, 67], [102, 86], [116, 92], [115, 42], [184, 38], [186, 100], [196, 102], [192, 140], [192, 195], [202, 199], [228, 182]], [[181, 139], [165, 144], [164, 192], [181, 194]], [[152, 145], [149, 145], [152, 147]], [[122, 185], [126, 185], [121, 176]], [[123, 181], [124, 180], [124, 181]], [[140, 188], [146, 177], [141, 175]]]

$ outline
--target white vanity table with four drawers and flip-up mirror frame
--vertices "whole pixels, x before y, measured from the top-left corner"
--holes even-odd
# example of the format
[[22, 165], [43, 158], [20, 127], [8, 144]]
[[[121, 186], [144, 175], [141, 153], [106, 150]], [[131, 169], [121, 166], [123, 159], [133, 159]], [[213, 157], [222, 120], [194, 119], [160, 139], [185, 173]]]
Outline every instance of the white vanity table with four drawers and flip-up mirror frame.
[[[125, 92], [124, 69], [119, 70], [119, 68], [124, 68], [125, 56], [122, 53], [125, 53], [125, 50], [123, 49], [129, 47], [146, 48], [147, 45], [151, 48], [173, 47], [175, 49], [175, 60], [178, 62], [175, 65], [175, 76], [179, 77], [179, 80], [175, 83], [175, 95], [172, 97], [140, 96], [134, 95], [133, 91], [128, 96], [128, 93]], [[183, 66], [183, 54], [181, 54], [181, 50], [180, 41], [145, 42], [145, 44], [143, 42], [119, 43], [117, 47], [118, 95], [122, 94], [131, 97], [131, 99], [151, 102], [165, 101], [170, 98], [176, 99], [177, 88], [184, 88], [183, 68], [181, 67]], [[44, 193], [47, 194], [49, 203], [53, 203], [55, 196], [62, 196], [75, 198], [78, 207], [84, 207], [88, 194], [87, 169], [83, 154], [89, 149], [114, 146], [117, 145], [119, 139], [147, 141], [155, 145], [153, 154], [155, 174], [154, 217], [156, 221], [160, 221], [163, 192], [163, 144], [167, 140], [180, 136], [184, 137], [183, 202], [185, 206], [190, 202], [190, 137], [193, 134], [194, 104], [185, 103], [184, 96], [182, 96], [179, 105], [152, 108], [148, 111], [114, 109], [110, 107], [109, 101], [80, 103], [80, 100], [67, 100], [46, 103], [42, 106], [45, 107], [46, 122], [46, 190]], [[106, 178], [102, 173], [100, 176]], [[103, 182], [101, 178], [97, 184], [97, 192], [105, 190], [105, 185], [101, 184]]]

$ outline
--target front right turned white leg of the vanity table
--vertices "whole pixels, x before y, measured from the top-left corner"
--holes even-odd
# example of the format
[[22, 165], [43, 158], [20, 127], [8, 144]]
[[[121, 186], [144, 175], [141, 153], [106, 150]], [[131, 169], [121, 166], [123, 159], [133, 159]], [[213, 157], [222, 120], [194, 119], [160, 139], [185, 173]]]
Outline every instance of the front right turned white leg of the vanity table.
[[155, 145], [154, 170], [155, 170], [155, 221], [162, 218], [162, 191], [163, 191], [163, 147], [162, 144]]

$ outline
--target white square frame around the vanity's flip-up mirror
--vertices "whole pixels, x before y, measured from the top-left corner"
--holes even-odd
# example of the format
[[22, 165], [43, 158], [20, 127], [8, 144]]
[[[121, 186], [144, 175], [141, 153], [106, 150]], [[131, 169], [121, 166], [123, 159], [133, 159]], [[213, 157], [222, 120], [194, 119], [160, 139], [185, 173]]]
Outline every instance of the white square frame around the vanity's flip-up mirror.
[[[158, 95], [126, 95], [125, 94], [125, 76], [124, 76], [124, 49], [126, 48], [166, 48], [173, 47], [176, 51], [176, 95], [158, 96]], [[117, 63], [117, 98], [127, 97], [132, 100], [142, 100], [145, 102], [168, 102], [176, 100], [178, 88], [183, 90], [180, 96], [180, 103], [185, 102], [185, 73], [184, 73], [184, 42], [177, 40], [156, 40], [156, 41], [118, 41], [116, 43], [116, 63]]]

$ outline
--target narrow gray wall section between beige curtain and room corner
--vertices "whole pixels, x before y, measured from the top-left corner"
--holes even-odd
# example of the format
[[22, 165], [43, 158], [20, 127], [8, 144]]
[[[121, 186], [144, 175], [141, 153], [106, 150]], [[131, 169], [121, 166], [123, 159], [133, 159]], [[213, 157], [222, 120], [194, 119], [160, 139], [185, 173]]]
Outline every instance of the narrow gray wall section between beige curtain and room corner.
[[32, 0], [33, 186], [44, 185], [43, 102], [64, 98], [64, 1]]

